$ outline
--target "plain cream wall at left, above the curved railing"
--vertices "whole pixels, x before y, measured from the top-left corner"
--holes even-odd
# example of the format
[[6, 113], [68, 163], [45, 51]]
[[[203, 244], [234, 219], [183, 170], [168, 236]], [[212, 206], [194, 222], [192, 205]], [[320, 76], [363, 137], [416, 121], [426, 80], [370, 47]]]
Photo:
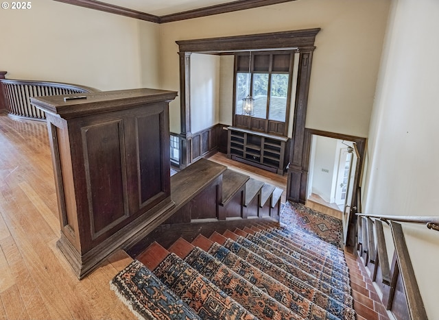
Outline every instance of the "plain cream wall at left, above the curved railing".
[[100, 90], [158, 87], [159, 26], [52, 0], [0, 10], [0, 70], [9, 79]]

